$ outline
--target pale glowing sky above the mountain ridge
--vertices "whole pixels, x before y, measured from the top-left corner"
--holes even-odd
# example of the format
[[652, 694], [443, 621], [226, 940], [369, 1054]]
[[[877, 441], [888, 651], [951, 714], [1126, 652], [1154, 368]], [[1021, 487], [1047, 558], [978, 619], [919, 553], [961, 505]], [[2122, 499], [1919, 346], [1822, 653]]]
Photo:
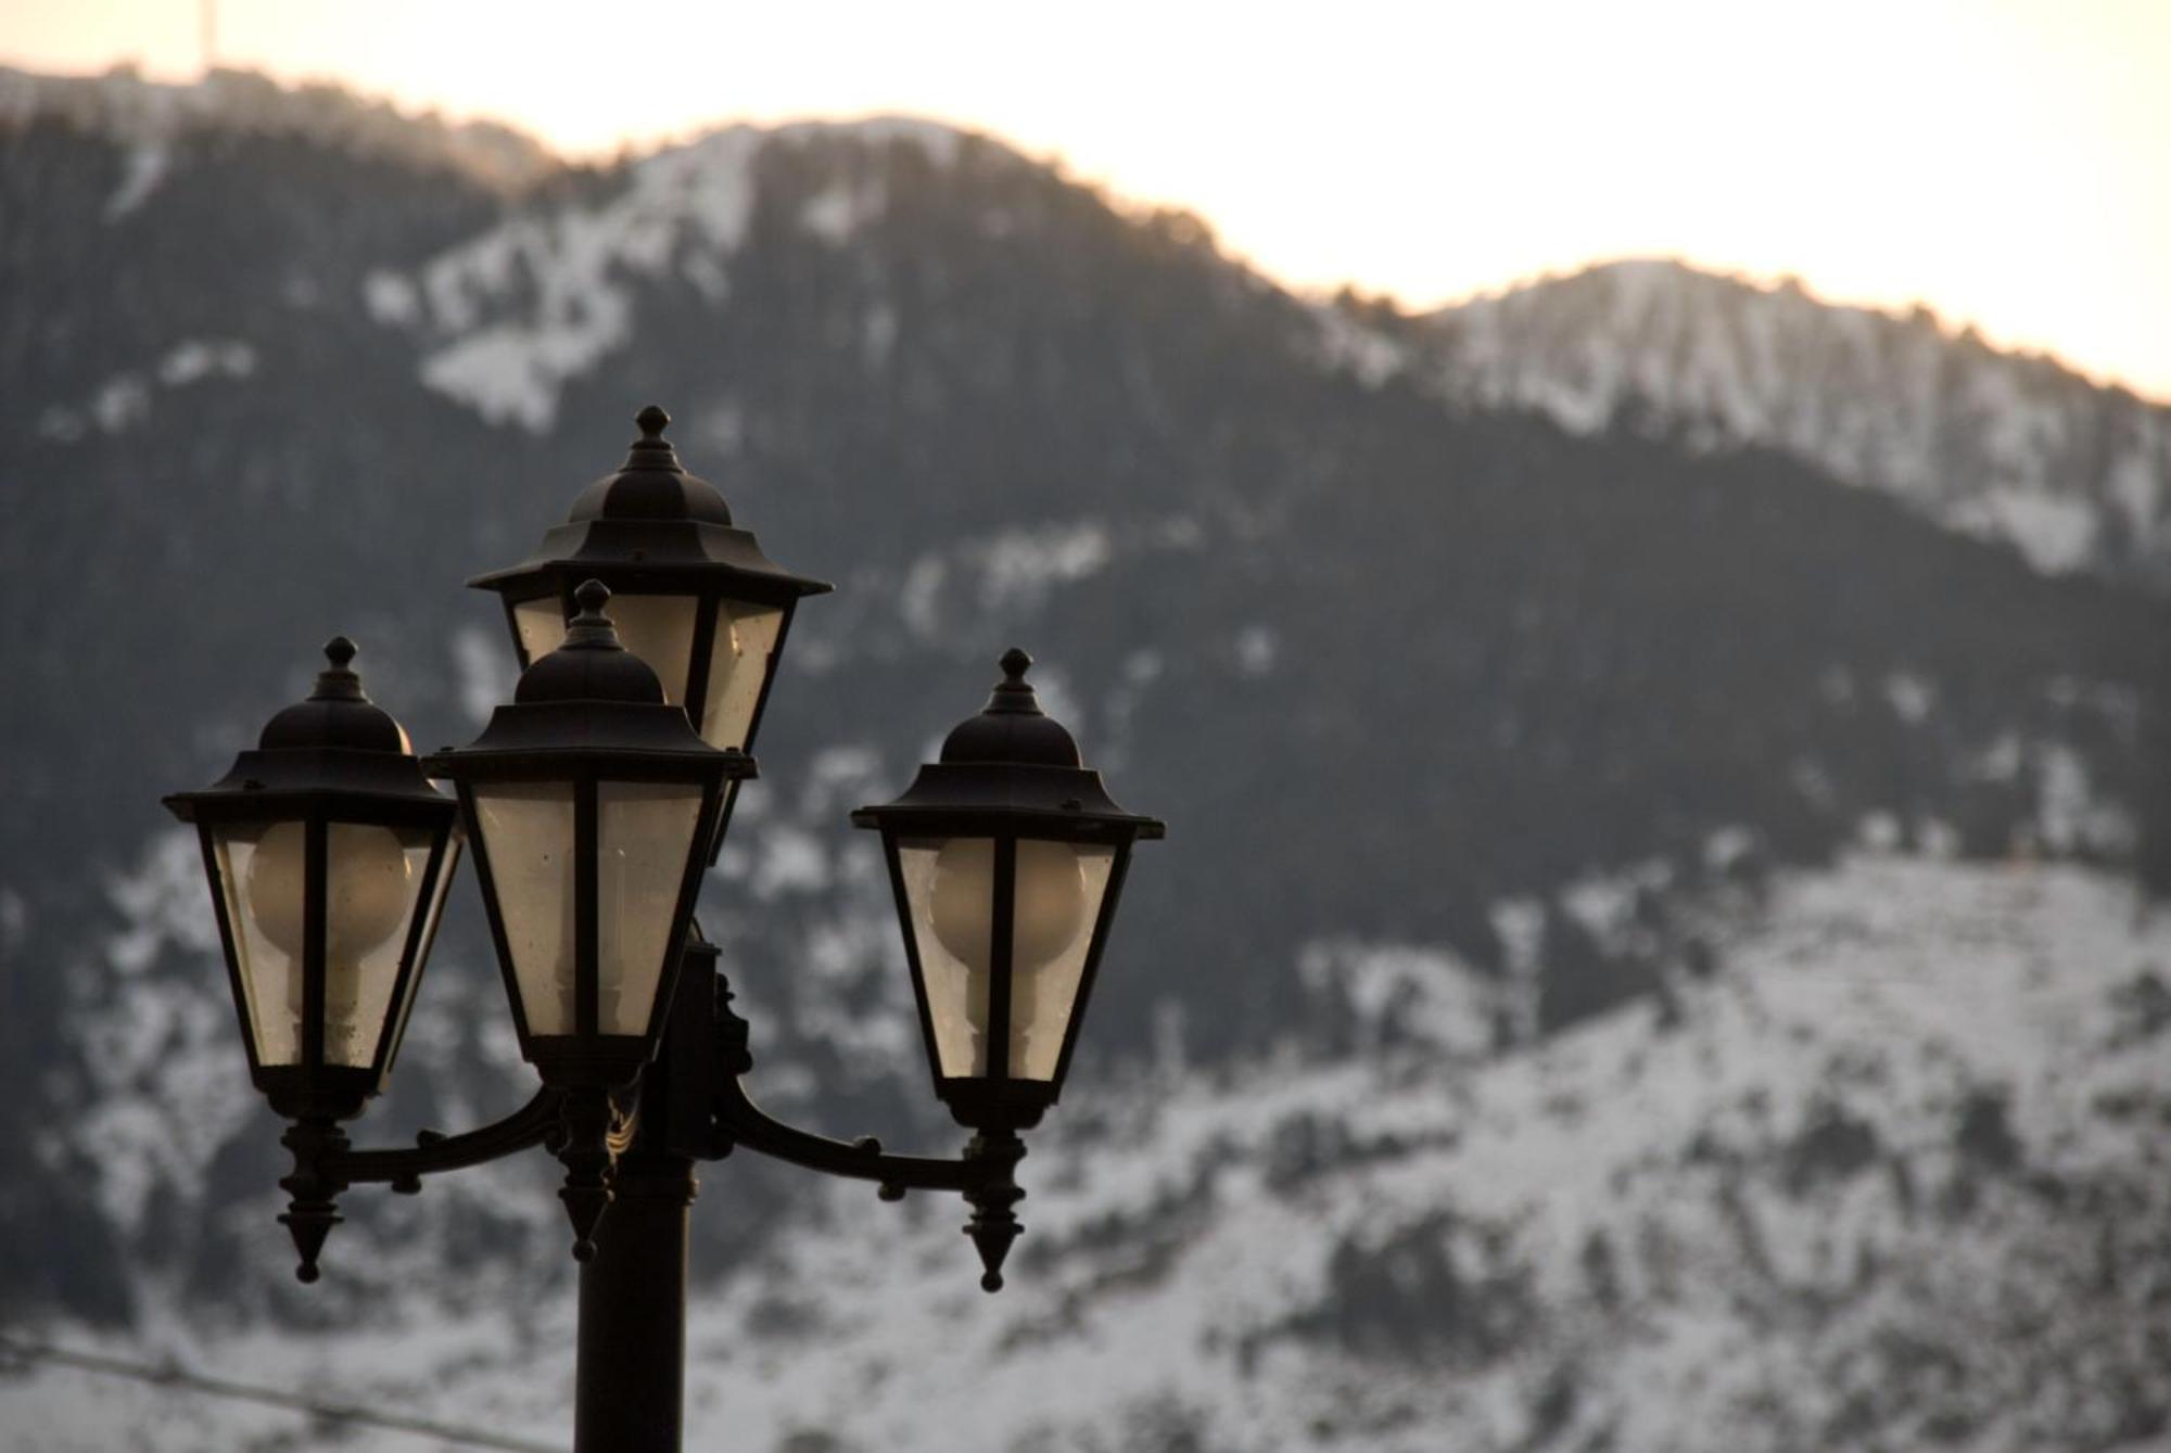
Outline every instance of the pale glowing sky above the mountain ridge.
[[[2171, 0], [215, 0], [221, 65], [569, 154], [910, 113], [1433, 306], [1678, 256], [1926, 301], [2171, 401]], [[0, 0], [0, 63], [187, 80], [206, 0]]]

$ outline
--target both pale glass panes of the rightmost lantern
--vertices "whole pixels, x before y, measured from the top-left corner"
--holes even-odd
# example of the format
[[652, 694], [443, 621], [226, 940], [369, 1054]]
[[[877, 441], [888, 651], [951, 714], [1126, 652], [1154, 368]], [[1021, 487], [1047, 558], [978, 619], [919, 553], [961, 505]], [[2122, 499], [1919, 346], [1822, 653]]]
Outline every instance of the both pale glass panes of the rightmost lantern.
[[[994, 854], [990, 837], [897, 844], [944, 1078], [988, 1073]], [[1103, 846], [1018, 841], [1007, 1028], [1014, 1080], [1055, 1078], [1112, 867], [1114, 852]]]

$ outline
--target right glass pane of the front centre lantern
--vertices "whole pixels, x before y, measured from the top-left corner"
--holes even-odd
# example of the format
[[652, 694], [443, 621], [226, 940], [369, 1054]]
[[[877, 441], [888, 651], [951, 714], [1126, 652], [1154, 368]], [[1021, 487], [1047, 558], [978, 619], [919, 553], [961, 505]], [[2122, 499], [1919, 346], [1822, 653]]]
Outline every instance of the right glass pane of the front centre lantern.
[[701, 818], [701, 787], [599, 783], [595, 809], [597, 1028], [647, 1034]]

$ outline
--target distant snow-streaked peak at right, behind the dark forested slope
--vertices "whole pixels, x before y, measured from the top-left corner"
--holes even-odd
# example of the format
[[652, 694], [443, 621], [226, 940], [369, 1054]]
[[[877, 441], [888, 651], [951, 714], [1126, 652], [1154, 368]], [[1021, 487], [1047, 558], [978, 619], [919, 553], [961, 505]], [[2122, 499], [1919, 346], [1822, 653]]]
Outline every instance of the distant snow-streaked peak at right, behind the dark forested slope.
[[2039, 570], [2171, 583], [2171, 408], [1926, 308], [1626, 260], [1420, 319], [1333, 304], [1326, 345], [1366, 377], [1539, 410], [1576, 434], [1782, 449]]

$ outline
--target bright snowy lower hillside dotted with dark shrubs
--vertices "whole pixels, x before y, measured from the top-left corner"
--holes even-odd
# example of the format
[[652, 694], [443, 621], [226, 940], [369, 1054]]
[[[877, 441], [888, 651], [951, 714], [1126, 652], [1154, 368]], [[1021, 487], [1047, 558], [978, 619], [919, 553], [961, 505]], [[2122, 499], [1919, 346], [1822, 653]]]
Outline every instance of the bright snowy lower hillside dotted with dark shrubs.
[[[1001, 1299], [955, 1208], [803, 1186], [808, 1227], [697, 1303], [688, 1440], [2162, 1446], [2171, 917], [2097, 872], [1867, 850], [1704, 911], [1726, 967], [1507, 1056], [1468, 967], [1322, 946], [1357, 1052], [1081, 1095]], [[96, 1347], [562, 1440], [562, 1288], [456, 1303], [208, 1345], [169, 1306]], [[321, 1436], [69, 1368], [0, 1416], [26, 1453]]]

